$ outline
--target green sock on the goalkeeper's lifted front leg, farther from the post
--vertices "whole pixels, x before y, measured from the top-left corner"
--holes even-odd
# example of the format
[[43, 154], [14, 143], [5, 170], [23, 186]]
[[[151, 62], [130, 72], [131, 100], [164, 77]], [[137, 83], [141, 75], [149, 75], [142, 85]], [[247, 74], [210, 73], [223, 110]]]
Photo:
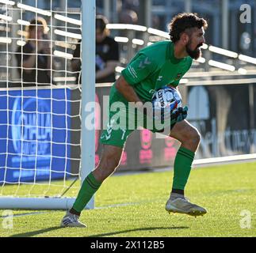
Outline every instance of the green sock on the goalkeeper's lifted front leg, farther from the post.
[[178, 149], [178, 153], [174, 161], [173, 189], [185, 189], [185, 184], [188, 181], [194, 157], [195, 153], [189, 149], [185, 149], [183, 147]]

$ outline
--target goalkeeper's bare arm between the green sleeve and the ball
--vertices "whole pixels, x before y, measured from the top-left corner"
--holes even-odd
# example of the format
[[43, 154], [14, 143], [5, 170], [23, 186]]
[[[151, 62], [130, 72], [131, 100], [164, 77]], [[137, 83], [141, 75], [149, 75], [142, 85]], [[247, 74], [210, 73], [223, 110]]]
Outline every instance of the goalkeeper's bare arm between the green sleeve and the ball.
[[131, 85], [120, 76], [116, 82], [116, 89], [121, 93], [128, 102], [142, 102]]

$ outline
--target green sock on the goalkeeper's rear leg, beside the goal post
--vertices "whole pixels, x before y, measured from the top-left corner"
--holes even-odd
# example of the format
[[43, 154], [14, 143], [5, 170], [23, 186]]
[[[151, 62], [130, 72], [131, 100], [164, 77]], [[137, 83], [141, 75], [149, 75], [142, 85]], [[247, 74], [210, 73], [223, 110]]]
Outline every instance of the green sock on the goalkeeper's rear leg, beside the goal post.
[[93, 197], [94, 193], [100, 186], [101, 182], [98, 182], [94, 178], [93, 172], [90, 172], [90, 174], [83, 181], [82, 187], [78, 193], [78, 197], [76, 198], [72, 208], [77, 212], [82, 212], [87, 203], [90, 201], [90, 198]]

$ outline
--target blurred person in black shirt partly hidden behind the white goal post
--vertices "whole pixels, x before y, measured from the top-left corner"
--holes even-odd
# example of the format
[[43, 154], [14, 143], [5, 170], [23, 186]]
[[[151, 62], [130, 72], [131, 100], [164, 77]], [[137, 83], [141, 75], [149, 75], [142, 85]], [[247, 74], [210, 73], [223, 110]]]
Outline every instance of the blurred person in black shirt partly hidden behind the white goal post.
[[[109, 36], [109, 30], [106, 28], [108, 24], [104, 16], [96, 17], [96, 82], [113, 82], [116, 81], [115, 69], [119, 63], [119, 47], [118, 43]], [[72, 59], [72, 70], [77, 72], [77, 82], [81, 83], [81, 40], [74, 52]]]

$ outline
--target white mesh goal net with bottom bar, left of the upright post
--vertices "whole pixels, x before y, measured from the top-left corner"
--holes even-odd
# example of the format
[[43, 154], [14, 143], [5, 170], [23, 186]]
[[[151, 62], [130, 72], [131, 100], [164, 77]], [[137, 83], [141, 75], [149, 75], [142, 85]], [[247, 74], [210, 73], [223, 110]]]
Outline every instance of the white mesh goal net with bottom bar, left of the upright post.
[[65, 210], [92, 169], [81, 160], [79, 49], [94, 1], [68, 2], [0, 0], [0, 209]]

